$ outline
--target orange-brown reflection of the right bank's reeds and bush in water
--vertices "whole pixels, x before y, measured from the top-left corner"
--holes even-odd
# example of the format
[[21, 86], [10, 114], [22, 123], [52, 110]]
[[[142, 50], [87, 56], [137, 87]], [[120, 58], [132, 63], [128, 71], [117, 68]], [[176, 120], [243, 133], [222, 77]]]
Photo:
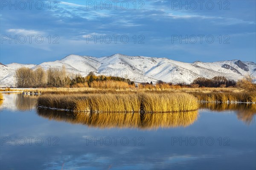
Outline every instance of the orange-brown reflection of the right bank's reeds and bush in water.
[[237, 118], [244, 123], [250, 125], [253, 122], [253, 117], [256, 115], [256, 104], [247, 103], [204, 103], [201, 108], [209, 109], [210, 111], [236, 111]]

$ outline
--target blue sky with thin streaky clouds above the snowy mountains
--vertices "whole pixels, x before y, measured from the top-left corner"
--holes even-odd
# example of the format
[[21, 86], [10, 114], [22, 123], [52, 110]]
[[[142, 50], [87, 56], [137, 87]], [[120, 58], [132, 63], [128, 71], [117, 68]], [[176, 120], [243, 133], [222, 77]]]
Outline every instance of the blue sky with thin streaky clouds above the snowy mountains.
[[0, 1], [0, 62], [70, 54], [256, 62], [255, 0]]

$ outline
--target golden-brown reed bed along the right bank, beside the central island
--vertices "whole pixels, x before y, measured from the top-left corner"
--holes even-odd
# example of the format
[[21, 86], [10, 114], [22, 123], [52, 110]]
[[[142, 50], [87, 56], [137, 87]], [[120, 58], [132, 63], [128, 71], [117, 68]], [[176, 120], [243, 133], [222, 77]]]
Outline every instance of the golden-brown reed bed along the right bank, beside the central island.
[[191, 92], [202, 102], [256, 102], [255, 92]]

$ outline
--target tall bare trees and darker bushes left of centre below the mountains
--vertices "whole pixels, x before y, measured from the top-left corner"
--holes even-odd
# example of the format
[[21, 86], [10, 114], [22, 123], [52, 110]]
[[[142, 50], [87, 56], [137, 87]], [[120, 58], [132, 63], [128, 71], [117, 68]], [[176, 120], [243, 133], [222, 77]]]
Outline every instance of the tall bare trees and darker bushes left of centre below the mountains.
[[86, 77], [81, 75], [67, 74], [66, 68], [49, 68], [45, 71], [41, 67], [36, 69], [19, 68], [16, 70], [15, 82], [20, 88], [39, 87], [91, 87], [93, 82], [120, 81], [128, 85], [134, 85], [130, 79], [112, 76], [96, 76], [90, 72]]

